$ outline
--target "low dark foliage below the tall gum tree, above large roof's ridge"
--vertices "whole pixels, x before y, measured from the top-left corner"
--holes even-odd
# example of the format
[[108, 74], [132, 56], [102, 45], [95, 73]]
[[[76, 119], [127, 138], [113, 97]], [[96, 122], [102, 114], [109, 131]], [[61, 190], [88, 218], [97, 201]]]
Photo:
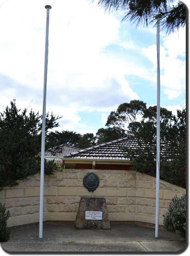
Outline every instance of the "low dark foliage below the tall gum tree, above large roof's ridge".
[[126, 137], [126, 133], [117, 127], [100, 128], [96, 133], [96, 143], [102, 144], [122, 137]]

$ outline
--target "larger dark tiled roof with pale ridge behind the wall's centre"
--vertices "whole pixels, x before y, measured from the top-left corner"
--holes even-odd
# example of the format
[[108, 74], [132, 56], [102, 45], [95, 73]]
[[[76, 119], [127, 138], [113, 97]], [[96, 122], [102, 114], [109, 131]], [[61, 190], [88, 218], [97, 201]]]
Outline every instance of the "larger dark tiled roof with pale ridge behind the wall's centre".
[[77, 150], [65, 155], [64, 158], [75, 159], [103, 159], [103, 160], [129, 160], [123, 154], [122, 147], [134, 149], [138, 147], [136, 138], [121, 138], [107, 143]]

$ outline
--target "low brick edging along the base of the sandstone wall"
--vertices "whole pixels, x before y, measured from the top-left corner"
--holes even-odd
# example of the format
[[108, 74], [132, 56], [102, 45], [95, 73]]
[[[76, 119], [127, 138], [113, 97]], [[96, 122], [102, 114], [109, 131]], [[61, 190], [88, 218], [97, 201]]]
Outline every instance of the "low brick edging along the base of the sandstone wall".
[[[43, 225], [45, 225], [45, 224], [61, 225], [61, 224], [74, 224], [74, 223], [75, 223], [75, 221], [72, 221], [72, 220], [45, 220], [45, 221], [43, 221]], [[135, 225], [135, 226], [155, 228], [155, 224], [151, 224], [151, 223], [147, 223], [147, 222], [140, 222], [140, 221], [110, 221], [110, 224]], [[9, 227], [9, 229], [10, 230], [21, 230], [24, 228], [32, 228], [32, 227], [37, 227], [37, 226], [39, 226], [39, 222]], [[165, 229], [165, 228], [164, 228], [164, 226], [159, 225], [159, 229]]]

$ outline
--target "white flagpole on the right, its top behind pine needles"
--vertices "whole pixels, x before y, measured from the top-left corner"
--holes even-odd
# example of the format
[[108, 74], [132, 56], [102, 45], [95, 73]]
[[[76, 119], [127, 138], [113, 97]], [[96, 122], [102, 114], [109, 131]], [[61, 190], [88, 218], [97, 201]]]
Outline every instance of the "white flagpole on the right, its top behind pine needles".
[[157, 158], [156, 158], [156, 225], [155, 237], [158, 237], [159, 225], [159, 166], [160, 166], [160, 26], [157, 17]]

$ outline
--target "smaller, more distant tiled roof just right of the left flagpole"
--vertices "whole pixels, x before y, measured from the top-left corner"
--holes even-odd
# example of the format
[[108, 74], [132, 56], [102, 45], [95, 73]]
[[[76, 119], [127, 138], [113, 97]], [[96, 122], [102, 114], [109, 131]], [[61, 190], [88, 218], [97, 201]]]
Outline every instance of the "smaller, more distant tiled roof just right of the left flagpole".
[[76, 152], [77, 150], [80, 150], [75, 147], [67, 146], [67, 145], [61, 145], [59, 149], [50, 149], [45, 151], [45, 157], [60, 157], [63, 158], [65, 155], [71, 153], [71, 152]]

